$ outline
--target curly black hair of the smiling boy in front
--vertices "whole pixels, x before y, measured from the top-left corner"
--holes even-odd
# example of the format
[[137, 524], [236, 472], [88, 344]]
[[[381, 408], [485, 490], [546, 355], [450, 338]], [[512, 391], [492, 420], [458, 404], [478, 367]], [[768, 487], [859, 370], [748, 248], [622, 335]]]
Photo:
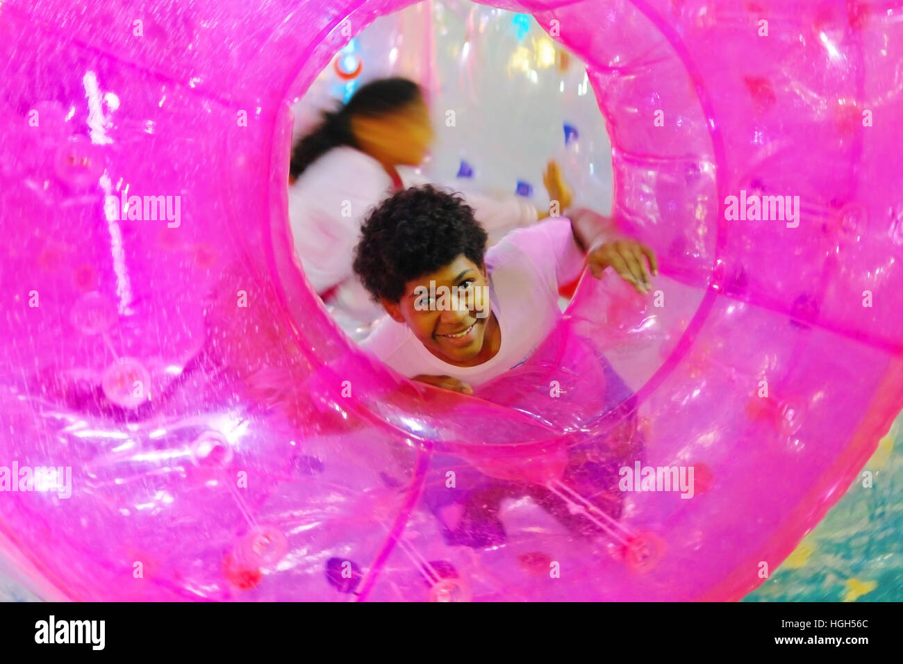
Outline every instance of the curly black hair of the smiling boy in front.
[[461, 254], [482, 267], [487, 237], [459, 195], [424, 184], [397, 192], [370, 212], [353, 267], [374, 301], [398, 302], [407, 282]]

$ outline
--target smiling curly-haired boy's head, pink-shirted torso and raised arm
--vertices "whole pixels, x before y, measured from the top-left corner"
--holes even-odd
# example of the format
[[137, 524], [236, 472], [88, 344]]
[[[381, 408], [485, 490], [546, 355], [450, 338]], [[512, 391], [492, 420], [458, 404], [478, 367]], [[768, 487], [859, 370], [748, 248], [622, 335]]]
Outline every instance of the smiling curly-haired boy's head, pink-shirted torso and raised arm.
[[354, 270], [389, 315], [362, 347], [408, 378], [470, 394], [552, 332], [559, 286], [584, 262], [648, 293], [652, 250], [613, 237], [589, 210], [572, 217], [513, 230], [487, 251], [486, 231], [452, 193], [425, 185], [383, 201], [361, 229]]

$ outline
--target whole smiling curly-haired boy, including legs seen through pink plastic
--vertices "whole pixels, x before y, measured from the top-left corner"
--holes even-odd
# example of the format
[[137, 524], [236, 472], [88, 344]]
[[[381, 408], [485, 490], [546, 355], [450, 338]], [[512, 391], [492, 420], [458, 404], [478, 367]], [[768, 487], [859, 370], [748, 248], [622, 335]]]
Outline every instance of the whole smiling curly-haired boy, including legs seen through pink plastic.
[[[472, 394], [542, 346], [561, 316], [559, 285], [579, 276], [584, 264], [596, 278], [611, 267], [638, 292], [649, 292], [649, 273], [657, 274], [650, 248], [615, 236], [591, 210], [571, 216], [514, 230], [487, 251], [486, 231], [458, 196], [432, 186], [396, 193], [368, 216], [355, 251], [355, 272], [389, 314], [362, 347], [407, 378]], [[605, 420], [612, 425], [568, 449], [558, 482], [619, 519], [618, 470], [640, 458], [643, 443], [629, 389], [604, 358], [597, 360], [610, 407]], [[602, 534], [548, 485], [459, 468], [467, 479], [461, 474], [461, 489], [449, 490], [442, 478], [450, 463], [437, 460], [431, 472], [438, 474], [424, 491], [450, 545], [504, 543], [500, 503], [523, 497], [575, 535]]]

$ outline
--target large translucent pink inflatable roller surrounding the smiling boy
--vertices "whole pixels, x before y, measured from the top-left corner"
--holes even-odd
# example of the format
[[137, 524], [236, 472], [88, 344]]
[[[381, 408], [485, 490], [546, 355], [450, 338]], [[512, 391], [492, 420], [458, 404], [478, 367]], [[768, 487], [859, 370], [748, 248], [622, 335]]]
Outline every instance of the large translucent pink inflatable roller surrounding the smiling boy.
[[407, 4], [0, 6], [0, 546], [43, 597], [739, 599], [903, 405], [903, 7], [494, 3], [588, 63], [662, 275], [463, 397], [357, 351], [287, 225], [289, 105]]

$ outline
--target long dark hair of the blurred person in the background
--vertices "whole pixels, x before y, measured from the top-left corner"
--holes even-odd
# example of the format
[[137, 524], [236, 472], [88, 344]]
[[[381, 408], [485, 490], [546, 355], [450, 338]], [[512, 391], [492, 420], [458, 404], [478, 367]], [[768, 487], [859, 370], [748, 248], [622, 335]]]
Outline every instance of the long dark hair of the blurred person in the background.
[[334, 147], [357, 147], [351, 132], [352, 117], [383, 117], [423, 98], [423, 91], [413, 80], [393, 78], [369, 82], [347, 104], [324, 112], [321, 123], [295, 143], [289, 174], [293, 179], [299, 178], [308, 166]]

